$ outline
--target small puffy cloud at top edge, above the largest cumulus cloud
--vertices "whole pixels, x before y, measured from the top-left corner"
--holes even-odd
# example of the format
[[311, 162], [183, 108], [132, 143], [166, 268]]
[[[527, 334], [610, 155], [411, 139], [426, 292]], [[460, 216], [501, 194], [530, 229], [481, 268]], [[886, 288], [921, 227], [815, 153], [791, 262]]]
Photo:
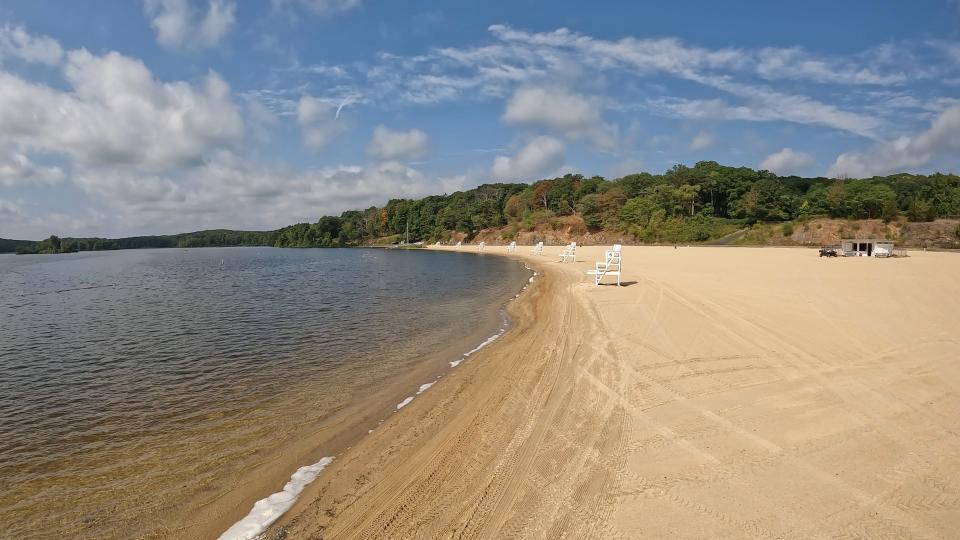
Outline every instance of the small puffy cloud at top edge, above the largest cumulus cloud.
[[209, 0], [206, 10], [193, 0], [145, 0], [144, 10], [164, 47], [212, 47], [230, 32], [236, 22], [237, 5], [228, 0]]

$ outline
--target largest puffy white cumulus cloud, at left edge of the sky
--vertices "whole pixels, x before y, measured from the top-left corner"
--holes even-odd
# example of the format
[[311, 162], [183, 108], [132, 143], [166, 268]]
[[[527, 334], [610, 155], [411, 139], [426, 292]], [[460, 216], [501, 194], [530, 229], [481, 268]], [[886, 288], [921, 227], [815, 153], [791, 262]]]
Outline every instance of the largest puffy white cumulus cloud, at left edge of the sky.
[[70, 90], [0, 72], [0, 143], [66, 154], [84, 165], [168, 168], [196, 163], [244, 136], [230, 87], [160, 82], [139, 60], [71, 51]]

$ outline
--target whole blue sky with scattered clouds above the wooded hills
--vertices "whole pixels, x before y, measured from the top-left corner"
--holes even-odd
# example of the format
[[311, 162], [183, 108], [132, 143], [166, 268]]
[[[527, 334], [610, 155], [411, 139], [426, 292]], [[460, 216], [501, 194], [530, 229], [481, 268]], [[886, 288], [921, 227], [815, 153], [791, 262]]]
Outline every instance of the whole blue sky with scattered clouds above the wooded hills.
[[960, 169], [960, 3], [7, 0], [0, 237], [716, 160]]

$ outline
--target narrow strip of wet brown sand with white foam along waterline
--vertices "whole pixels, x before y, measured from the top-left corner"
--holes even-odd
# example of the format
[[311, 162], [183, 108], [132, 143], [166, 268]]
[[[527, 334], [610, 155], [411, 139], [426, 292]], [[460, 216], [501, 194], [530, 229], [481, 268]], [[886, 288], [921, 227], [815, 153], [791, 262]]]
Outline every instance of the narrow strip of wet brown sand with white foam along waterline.
[[[189, 518], [170, 532], [223, 539], [261, 536], [270, 525], [282, 519], [299, 499], [301, 491], [322, 475], [337, 456], [375, 433], [383, 423], [455, 372], [470, 356], [503, 336], [511, 326], [507, 308], [529, 286], [530, 279], [523, 282], [516, 294], [502, 298], [503, 303], [490, 316], [489, 326], [455, 339], [456, 343], [440, 351], [425, 352], [424, 360], [418, 361], [413, 370], [398, 374], [384, 388], [366, 395], [362, 403], [352, 403], [334, 412], [295, 444], [277, 449], [258, 470], [238, 479], [234, 489], [193, 506]], [[375, 407], [371, 407], [371, 403], [376, 404]], [[324, 451], [320, 452], [320, 448]], [[239, 481], [245, 484], [241, 487]], [[250, 484], [256, 487], [251, 489]], [[273, 491], [265, 491], [269, 486], [273, 486]], [[240, 508], [244, 511], [238, 515]]]

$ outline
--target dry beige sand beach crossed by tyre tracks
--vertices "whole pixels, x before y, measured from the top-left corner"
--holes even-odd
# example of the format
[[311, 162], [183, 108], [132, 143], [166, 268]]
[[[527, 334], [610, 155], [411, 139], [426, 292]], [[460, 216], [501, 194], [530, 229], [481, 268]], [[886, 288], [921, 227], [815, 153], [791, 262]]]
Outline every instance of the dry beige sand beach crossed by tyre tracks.
[[559, 249], [270, 536], [957, 536], [960, 255], [625, 247], [618, 288]]

